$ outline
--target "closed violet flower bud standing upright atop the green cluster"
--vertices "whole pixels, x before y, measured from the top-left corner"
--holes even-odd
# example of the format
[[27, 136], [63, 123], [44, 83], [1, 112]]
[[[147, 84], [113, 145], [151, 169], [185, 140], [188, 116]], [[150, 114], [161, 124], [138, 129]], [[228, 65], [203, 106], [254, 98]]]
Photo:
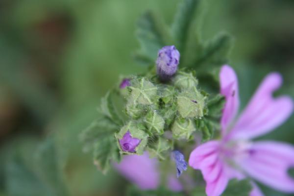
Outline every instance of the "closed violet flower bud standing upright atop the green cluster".
[[180, 60], [180, 52], [174, 46], [165, 46], [158, 51], [156, 60], [157, 74], [163, 81], [169, 80], [176, 72]]

